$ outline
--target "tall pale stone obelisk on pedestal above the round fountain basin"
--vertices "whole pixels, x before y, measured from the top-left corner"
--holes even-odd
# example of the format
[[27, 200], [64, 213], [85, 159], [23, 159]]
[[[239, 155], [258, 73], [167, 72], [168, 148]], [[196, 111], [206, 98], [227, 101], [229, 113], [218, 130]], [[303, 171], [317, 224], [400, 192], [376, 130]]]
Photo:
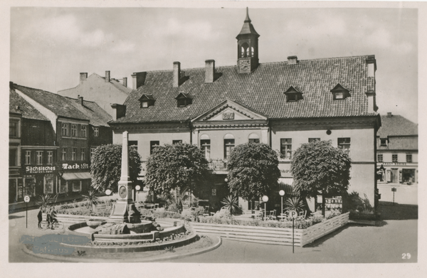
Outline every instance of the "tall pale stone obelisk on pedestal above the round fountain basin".
[[113, 205], [110, 220], [113, 222], [140, 223], [140, 213], [132, 200], [132, 181], [129, 177], [129, 149], [127, 134], [123, 132], [122, 171], [118, 184], [119, 199]]

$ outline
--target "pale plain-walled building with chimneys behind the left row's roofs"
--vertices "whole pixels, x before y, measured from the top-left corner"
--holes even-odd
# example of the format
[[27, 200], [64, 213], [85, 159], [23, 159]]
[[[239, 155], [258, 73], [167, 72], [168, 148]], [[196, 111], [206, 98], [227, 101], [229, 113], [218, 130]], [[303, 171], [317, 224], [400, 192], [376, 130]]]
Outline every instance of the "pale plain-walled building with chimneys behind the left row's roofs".
[[58, 95], [64, 97], [84, 97], [85, 100], [96, 102], [107, 113], [112, 115], [112, 103], [123, 104], [132, 89], [127, 87], [127, 77], [122, 82], [110, 77], [110, 70], [105, 71], [105, 77], [93, 73], [80, 73], [80, 84], [76, 87], [60, 90]]

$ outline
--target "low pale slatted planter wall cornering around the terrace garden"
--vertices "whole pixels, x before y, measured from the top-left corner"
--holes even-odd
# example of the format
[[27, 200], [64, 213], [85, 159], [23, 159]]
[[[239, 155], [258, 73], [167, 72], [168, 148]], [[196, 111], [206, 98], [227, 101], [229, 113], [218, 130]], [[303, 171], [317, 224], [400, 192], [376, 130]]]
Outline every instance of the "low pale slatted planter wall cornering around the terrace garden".
[[[324, 235], [347, 225], [349, 213], [338, 215], [307, 229], [294, 229], [294, 245], [303, 247]], [[191, 223], [200, 233], [214, 233], [223, 237], [274, 245], [292, 245], [292, 228], [270, 228], [212, 223]]]

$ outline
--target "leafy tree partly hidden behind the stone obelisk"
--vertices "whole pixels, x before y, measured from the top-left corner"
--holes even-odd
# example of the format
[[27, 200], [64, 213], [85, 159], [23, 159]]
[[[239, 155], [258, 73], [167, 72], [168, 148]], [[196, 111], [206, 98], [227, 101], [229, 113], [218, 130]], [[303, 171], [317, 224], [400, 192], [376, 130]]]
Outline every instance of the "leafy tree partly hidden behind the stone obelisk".
[[[135, 184], [141, 171], [141, 156], [135, 148], [129, 148], [129, 176]], [[117, 193], [117, 183], [122, 171], [122, 145], [108, 144], [98, 146], [90, 161], [90, 175], [92, 186], [103, 192], [109, 188]]]

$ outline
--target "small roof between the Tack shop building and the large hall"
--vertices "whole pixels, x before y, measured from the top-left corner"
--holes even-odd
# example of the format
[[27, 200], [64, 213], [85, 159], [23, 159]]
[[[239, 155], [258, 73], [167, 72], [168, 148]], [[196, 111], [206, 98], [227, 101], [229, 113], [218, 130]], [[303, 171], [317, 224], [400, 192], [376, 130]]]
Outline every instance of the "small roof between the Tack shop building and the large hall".
[[105, 110], [97, 105], [96, 102], [83, 100], [83, 105], [81, 105], [80, 100], [76, 100], [75, 98], [71, 97], [65, 98], [90, 119], [90, 124], [94, 126], [110, 127], [107, 122], [112, 119], [111, 115], [105, 112]]

